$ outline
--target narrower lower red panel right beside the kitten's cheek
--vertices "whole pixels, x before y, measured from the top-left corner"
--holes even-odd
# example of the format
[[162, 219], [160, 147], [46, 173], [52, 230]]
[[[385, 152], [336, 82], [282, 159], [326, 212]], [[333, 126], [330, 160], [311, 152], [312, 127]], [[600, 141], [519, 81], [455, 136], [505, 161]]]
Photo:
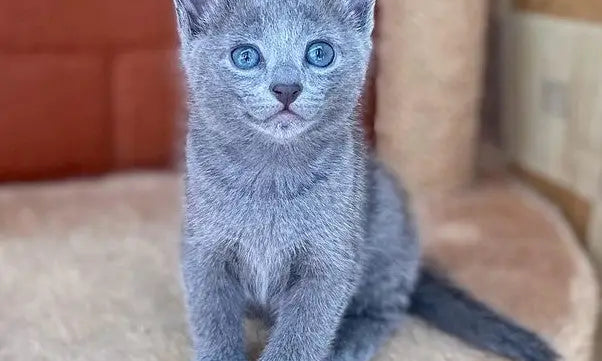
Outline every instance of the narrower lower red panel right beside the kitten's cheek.
[[172, 51], [117, 57], [112, 104], [118, 167], [164, 166], [174, 160], [175, 124], [183, 105], [177, 69]]

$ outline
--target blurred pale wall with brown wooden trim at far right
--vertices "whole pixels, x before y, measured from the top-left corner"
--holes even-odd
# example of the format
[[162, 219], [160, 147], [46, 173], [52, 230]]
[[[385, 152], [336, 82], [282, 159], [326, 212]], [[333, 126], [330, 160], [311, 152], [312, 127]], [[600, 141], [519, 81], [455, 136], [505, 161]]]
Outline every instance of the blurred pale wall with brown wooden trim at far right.
[[518, 3], [505, 20], [505, 145], [602, 270], [602, 22], [592, 21], [601, 3]]

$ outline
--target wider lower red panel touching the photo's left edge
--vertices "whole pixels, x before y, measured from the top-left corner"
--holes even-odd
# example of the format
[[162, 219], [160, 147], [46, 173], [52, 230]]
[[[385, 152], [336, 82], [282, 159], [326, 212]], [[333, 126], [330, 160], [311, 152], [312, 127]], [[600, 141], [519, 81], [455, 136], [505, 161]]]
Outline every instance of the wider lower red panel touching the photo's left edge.
[[92, 56], [0, 56], [1, 180], [107, 168], [104, 73]]

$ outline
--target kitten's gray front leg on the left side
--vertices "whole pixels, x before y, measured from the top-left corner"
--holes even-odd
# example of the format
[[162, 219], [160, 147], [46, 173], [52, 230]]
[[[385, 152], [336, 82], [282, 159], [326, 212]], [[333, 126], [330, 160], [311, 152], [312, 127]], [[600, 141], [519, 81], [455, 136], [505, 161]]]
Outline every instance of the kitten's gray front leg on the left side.
[[184, 245], [182, 267], [194, 361], [246, 361], [244, 300], [223, 253]]

